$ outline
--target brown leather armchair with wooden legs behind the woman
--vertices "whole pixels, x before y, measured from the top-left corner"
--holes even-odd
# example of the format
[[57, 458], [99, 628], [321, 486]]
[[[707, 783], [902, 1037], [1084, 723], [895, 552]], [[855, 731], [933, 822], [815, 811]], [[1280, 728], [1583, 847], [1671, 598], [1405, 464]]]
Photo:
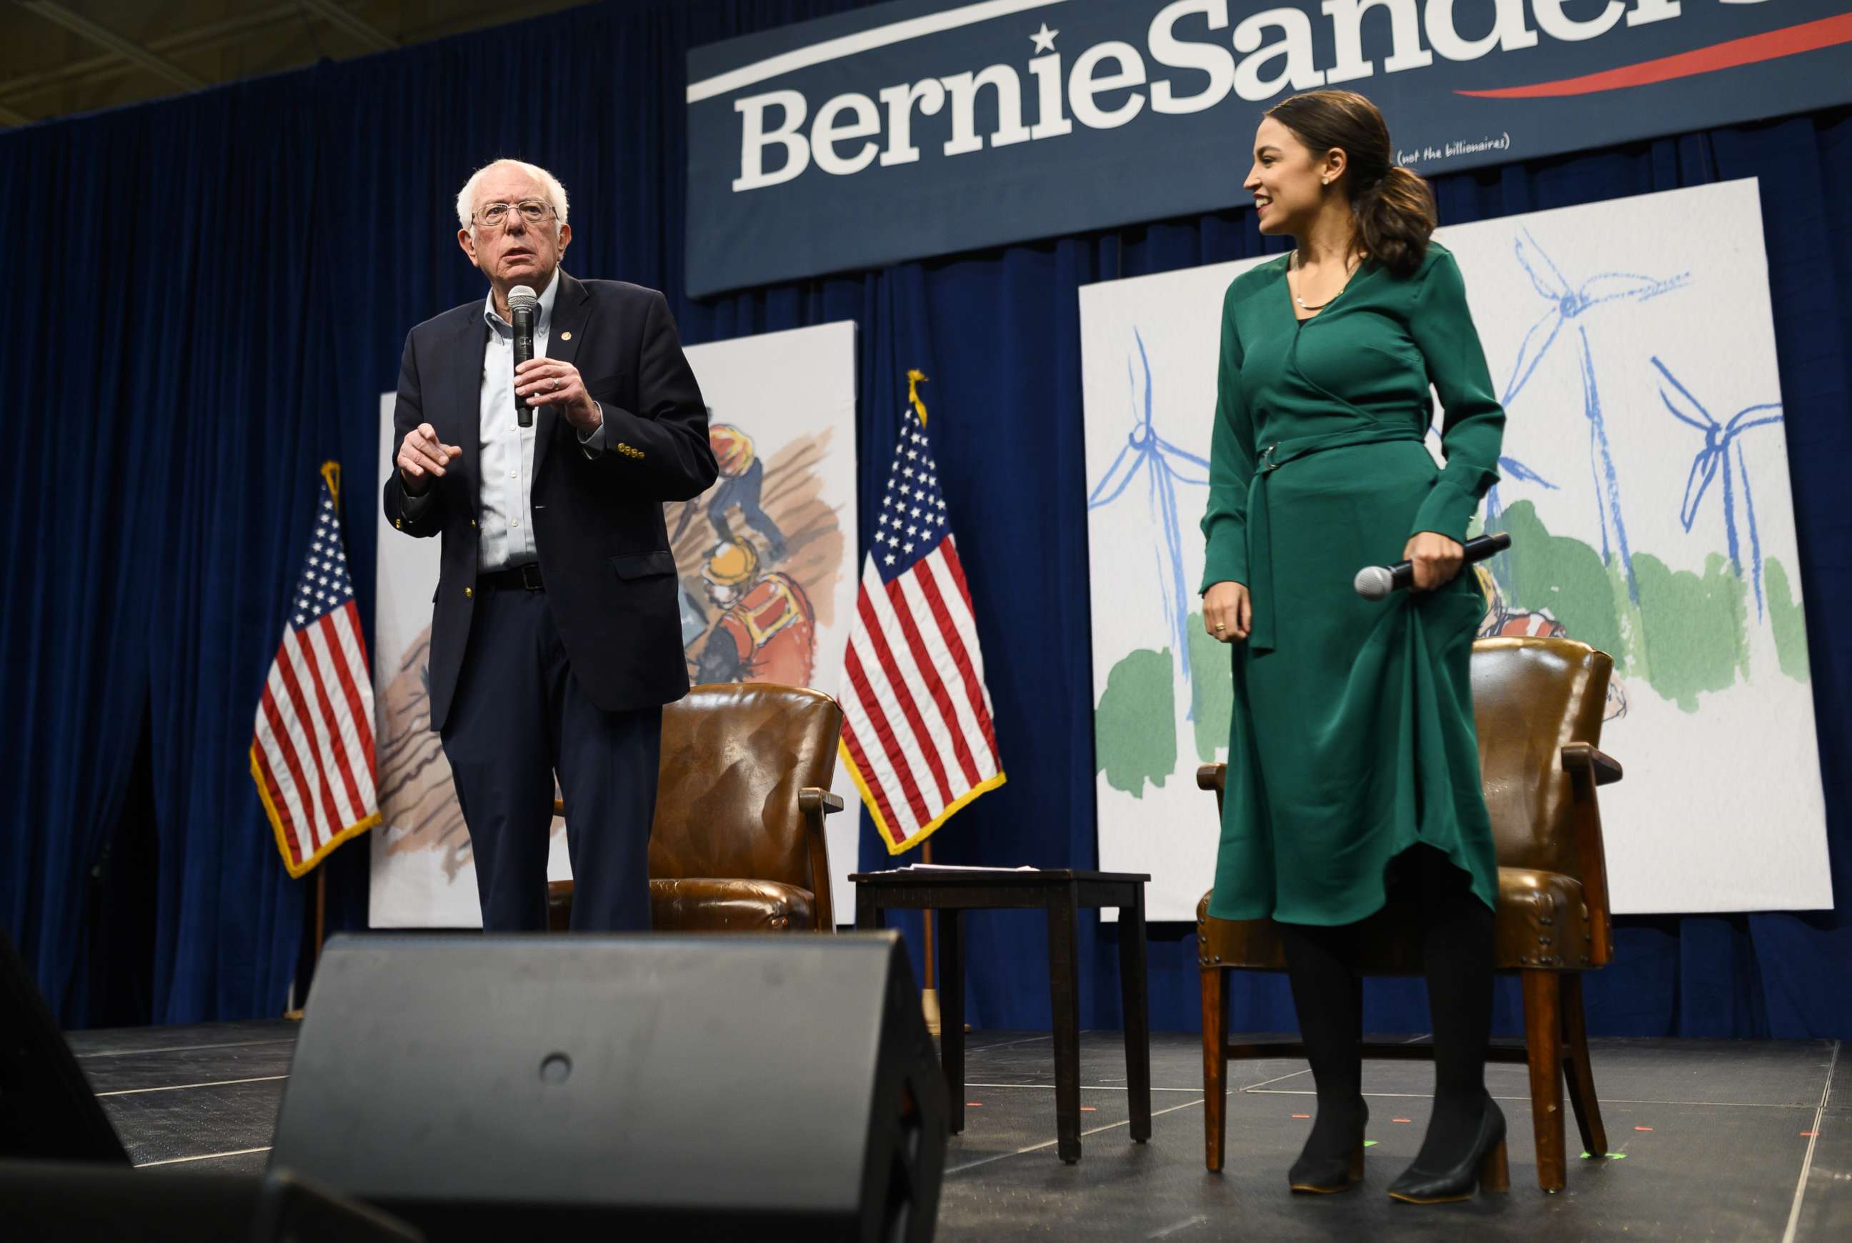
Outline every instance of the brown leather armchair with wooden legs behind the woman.
[[[1595, 789], [1620, 780], [1620, 765], [1598, 748], [1613, 659], [1570, 639], [1480, 639], [1472, 645], [1472, 709], [1480, 735], [1480, 778], [1498, 850], [1495, 965], [1524, 987], [1524, 1048], [1495, 1045], [1493, 1061], [1530, 1065], [1537, 1137], [1537, 1182], [1567, 1182], [1563, 1078], [1591, 1154], [1608, 1152], [1595, 1076], [1589, 1069], [1582, 973], [1613, 958], [1608, 863]], [[1222, 802], [1226, 765], [1196, 772]], [[1196, 906], [1202, 969], [1202, 1065], [1206, 1091], [1204, 1160], [1222, 1169], [1226, 1069], [1230, 1058], [1304, 1054], [1302, 1045], [1228, 1041], [1228, 971], [1283, 971], [1272, 921], [1209, 917]], [[1415, 911], [1391, 904], [1363, 930], [1363, 969], [1420, 974]], [[1367, 1045], [1372, 1058], [1432, 1058], [1430, 1047]]]

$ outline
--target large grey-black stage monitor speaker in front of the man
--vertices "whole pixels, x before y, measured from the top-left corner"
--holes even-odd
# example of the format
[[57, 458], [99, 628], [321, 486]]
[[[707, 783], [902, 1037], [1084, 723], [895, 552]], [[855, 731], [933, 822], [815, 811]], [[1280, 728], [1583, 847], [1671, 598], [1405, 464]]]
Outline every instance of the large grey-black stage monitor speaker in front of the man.
[[924, 1241], [946, 1097], [891, 932], [343, 935], [270, 1160], [433, 1239]]

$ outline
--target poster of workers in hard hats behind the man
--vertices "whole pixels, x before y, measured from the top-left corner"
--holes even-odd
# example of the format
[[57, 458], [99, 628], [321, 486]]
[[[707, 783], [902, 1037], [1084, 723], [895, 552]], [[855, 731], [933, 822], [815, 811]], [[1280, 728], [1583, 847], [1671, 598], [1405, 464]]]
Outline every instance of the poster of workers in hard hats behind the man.
[[[665, 506], [689, 680], [778, 682], [833, 695], [856, 604], [856, 326], [820, 324], [687, 348], [707, 404], [715, 485]], [[380, 478], [393, 395], [380, 398]], [[482, 924], [476, 867], [437, 735], [426, 663], [437, 541], [380, 526], [374, 697], [380, 830], [370, 835], [374, 928]], [[854, 808], [832, 817], [835, 910], [854, 911]], [[554, 821], [548, 876], [570, 876]]]

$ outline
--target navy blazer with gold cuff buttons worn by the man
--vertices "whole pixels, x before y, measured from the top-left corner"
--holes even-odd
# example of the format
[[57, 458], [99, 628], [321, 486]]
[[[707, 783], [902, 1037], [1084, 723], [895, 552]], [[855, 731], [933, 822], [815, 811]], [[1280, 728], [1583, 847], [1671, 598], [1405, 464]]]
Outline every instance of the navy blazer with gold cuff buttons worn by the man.
[[[559, 282], [546, 356], [578, 367], [604, 408], [606, 433], [604, 454], [587, 458], [556, 408], [535, 409], [533, 539], [546, 604], [593, 704], [606, 711], [669, 704], [687, 695], [689, 674], [663, 502], [713, 485], [707, 411], [663, 295], [565, 272]], [[385, 480], [385, 519], [407, 535], [443, 537], [432, 602], [433, 730], [450, 715], [474, 615], [489, 333], [482, 306], [469, 302], [411, 330], [393, 413], [394, 456], [420, 422], [463, 448], [417, 519], [406, 511], [398, 471]]]

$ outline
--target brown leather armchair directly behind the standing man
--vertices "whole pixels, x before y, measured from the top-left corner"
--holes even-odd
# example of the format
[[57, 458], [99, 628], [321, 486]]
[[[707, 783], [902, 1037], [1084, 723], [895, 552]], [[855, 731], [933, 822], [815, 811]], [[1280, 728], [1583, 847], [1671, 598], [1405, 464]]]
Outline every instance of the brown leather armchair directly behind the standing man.
[[[732, 682], [663, 708], [650, 830], [657, 932], [832, 932], [824, 817], [843, 709], [819, 691]], [[572, 882], [548, 885], [548, 923], [572, 913]]]

